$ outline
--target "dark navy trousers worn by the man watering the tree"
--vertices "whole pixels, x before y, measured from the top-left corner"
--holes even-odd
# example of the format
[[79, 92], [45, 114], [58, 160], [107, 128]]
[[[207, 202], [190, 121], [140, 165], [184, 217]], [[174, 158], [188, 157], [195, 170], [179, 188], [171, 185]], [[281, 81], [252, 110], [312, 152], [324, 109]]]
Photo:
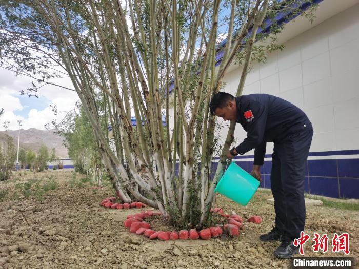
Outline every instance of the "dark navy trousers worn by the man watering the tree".
[[287, 241], [300, 237], [304, 231], [304, 175], [312, 136], [313, 129], [304, 128], [274, 143], [270, 180], [275, 226]]

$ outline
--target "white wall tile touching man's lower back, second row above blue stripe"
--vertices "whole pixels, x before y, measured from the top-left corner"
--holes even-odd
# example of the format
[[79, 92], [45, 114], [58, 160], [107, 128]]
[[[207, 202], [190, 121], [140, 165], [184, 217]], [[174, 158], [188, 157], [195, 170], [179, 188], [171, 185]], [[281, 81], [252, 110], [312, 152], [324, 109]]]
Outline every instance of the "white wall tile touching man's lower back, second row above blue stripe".
[[334, 131], [334, 106], [321, 106], [305, 111], [315, 133]]

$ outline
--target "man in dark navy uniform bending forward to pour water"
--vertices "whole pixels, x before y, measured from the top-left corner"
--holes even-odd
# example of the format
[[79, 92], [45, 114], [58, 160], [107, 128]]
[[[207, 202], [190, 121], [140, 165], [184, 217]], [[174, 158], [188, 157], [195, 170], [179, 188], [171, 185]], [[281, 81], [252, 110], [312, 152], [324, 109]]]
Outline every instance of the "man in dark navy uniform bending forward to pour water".
[[311, 122], [301, 109], [268, 94], [234, 97], [218, 92], [211, 100], [210, 112], [242, 125], [247, 138], [228, 151], [227, 157], [254, 149], [251, 174], [260, 181], [266, 143], [274, 142], [270, 179], [275, 227], [260, 240], [282, 241], [274, 255], [291, 258], [298, 252], [293, 240], [300, 237], [305, 224], [304, 174], [313, 136]]

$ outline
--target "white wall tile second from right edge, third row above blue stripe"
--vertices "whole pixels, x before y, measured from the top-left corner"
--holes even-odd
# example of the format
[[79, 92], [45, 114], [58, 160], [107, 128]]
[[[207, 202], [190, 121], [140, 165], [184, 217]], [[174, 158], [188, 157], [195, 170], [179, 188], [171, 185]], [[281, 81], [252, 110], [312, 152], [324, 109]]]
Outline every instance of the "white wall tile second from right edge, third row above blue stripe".
[[303, 90], [305, 108], [314, 108], [333, 103], [330, 77], [305, 85]]

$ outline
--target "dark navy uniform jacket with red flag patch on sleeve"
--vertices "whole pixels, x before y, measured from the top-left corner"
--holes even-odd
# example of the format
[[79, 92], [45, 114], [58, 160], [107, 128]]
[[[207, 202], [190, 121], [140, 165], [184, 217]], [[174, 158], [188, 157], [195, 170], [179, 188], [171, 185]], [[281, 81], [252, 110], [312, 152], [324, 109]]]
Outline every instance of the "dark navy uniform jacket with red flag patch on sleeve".
[[263, 165], [266, 142], [283, 143], [291, 134], [312, 128], [307, 115], [298, 107], [269, 94], [249, 94], [236, 97], [237, 123], [247, 132], [247, 138], [236, 147], [243, 155], [254, 150], [254, 164]]

